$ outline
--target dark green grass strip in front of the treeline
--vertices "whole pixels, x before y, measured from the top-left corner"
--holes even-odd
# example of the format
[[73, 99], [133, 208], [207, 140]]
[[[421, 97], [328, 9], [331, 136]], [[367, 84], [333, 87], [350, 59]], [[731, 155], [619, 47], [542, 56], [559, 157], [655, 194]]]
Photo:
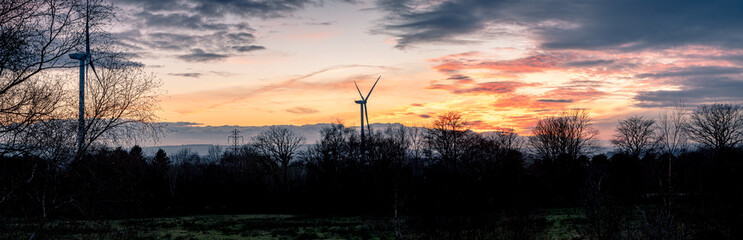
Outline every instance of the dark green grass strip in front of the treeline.
[[[576, 239], [585, 217], [560, 209], [514, 219], [491, 217], [330, 217], [203, 215], [170, 218], [55, 220], [36, 239]], [[4, 219], [1, 239], [28, 239], [38, 223]]]

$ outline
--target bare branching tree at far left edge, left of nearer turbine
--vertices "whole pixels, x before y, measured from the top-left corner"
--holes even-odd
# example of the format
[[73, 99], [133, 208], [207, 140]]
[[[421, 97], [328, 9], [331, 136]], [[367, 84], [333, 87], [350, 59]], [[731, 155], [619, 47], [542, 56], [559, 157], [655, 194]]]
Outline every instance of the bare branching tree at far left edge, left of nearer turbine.
[[[85, 42], [85, 2], [73, 0], [0, 0], [0, 154], [30, 153], [29, 130], [54, 119], [61, 83], [49, 69], [75, 66], [67, 54]], [[94, 39], [105, 38], [100, 26], [113, 17], [112, 7], [90, 1]], [[42, 74], [43, 73], [43, 74]]]

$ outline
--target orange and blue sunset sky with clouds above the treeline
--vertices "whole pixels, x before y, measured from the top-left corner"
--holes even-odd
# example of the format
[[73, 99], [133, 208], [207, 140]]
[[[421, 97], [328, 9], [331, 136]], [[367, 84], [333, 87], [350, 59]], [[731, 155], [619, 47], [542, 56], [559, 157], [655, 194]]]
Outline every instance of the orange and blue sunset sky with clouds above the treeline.
[[[372, 123], [425, 126], [460, 111], [473, 130], [526, 135], [538, 119], [570, 108], [588, 109], [609, 139], [619, 119], [653, 118], [679, 101], [743, 102], [742, 1], [116, 6], [110, 31], [162, 80], [158, 116], [181, 131], [355, 126], [354, 81], [366, 94], [379, 76], [368, 103]], [[186, 143], [179, 138], [163, 143]]]

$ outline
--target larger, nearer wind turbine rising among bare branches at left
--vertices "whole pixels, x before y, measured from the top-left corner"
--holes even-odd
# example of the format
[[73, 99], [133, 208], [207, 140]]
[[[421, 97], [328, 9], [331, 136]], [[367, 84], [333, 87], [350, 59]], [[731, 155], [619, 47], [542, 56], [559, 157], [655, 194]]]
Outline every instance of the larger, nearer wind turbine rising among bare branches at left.
[[85, 149], [85, 77], [87, 75], [88, 68], [90, 65], [93, 68], [98, 82], [101, 79], [98, 77], [98, 73], [95, 71], [95, 65], [93, 65], [93, 59], [90, 55], [90, 0], [85, 2], [85, 52], [72, 53], [69, 55], [70, 58], [80, 61], [80, 99], [78, 108], [78, 119], [77, 119], [77, 154], [82, 156], [82, 152]]

